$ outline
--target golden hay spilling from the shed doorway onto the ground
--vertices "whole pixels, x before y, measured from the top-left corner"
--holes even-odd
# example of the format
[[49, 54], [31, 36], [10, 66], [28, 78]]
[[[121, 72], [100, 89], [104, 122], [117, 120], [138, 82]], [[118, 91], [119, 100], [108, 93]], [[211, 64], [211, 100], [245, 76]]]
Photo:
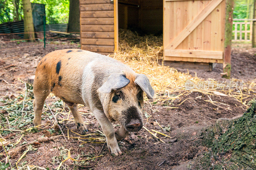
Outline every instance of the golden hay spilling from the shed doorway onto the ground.
[[[215, 83], [212, 89], [192, 89], [191, 91], [185, 90], [184, 83], [190, 80], [195, 84], [205, 81], [198, 77], [192, 77], [189, 72], [181, 73], [175, 68], [163, 65], [163, 36], [145, 35], [139, 36], [136, 32], [130, 30], [119, 29], [119, 51], [111, 57], [120, 60], [121, 62], [130, 66], [136, 73], [145, 74], [148, 76], [153, 89], [155, 90], [155, 99], [153, 103], [162, 104], [170, 103], [180, 96], [188, 94], [191, 91], [197, 91], [205, 95], [220, 95], [226, 94], [234, 97], [235, 100], [240, 101], [247, 108], [246, 98], [251, 93], [255, 93], [255, 81], [246, 82], [244, 84], [244, 92], [237, 92], [235, 89], [218, 90], [218, 82], [215, 80], [208, 80]], [[228, 83], [227, 80], [225, 83]], [[239, 81], [232, 79], [232, 82]], [[212, 101], [210, 101], [212, 102]]]

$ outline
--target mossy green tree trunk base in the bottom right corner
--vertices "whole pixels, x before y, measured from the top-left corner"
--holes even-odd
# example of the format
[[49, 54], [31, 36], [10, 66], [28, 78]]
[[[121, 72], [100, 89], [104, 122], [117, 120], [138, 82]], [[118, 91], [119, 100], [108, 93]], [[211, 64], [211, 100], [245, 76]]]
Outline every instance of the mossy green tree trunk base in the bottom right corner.
[[[207, 146], [201, 159], [204, 169], [255, 169], [256, 167], [256, 103], [235, 119], [219, 119], [203, 131], [203, 145]], [[212, 165], [211, 165], [212, 164]]]

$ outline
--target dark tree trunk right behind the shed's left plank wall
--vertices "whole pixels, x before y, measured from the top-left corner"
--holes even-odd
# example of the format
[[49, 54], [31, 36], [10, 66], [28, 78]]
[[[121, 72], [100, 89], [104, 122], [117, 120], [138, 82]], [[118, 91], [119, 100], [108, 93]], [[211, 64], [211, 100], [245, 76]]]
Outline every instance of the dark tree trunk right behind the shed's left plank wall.
[[79, 0], [69, 1], [68, 32], [80, 32]]

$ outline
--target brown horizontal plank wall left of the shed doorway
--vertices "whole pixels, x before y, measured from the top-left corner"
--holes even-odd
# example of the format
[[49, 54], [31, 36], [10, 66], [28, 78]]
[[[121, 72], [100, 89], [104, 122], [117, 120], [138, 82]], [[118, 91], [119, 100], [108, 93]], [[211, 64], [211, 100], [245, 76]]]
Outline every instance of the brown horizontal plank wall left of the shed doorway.
[[114, 4], [110, 0], [80, 0], [81, 49], [114, 52]]

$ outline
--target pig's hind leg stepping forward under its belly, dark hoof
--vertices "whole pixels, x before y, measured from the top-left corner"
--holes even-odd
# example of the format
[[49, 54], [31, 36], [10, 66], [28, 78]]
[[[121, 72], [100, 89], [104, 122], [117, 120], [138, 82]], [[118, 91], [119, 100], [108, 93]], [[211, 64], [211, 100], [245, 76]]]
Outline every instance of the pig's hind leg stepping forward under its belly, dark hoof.
[[84, 121], [82, 116], [80, 115], [78, 108], [77, 108], [77, 104], [76, 103], [72, 103], [72, 104], [68, 104], [69, 109], [72, 112], [72, 115], [75, 119], [75, 124], [76, 124], [76, 128], [79, 129], [81, 132], [85, 132], [88, 131], [86, 126], [84, 125]]

